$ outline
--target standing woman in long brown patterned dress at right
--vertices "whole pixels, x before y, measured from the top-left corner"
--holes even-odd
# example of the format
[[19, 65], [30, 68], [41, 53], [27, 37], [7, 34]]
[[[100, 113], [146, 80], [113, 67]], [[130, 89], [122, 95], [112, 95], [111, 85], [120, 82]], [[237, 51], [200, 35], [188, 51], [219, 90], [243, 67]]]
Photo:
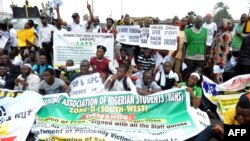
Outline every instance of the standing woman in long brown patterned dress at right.
[[232, 37], [229, 31], [231, 21], [228, 19], [222, 19], [219, 25], [220, 31], [216, 34], [215, 42], [211, 48], [208, 64], [212, 64], [214, 69], [214, 75], [217, 83], [223, 83], [223, 70], [229, 53]]

